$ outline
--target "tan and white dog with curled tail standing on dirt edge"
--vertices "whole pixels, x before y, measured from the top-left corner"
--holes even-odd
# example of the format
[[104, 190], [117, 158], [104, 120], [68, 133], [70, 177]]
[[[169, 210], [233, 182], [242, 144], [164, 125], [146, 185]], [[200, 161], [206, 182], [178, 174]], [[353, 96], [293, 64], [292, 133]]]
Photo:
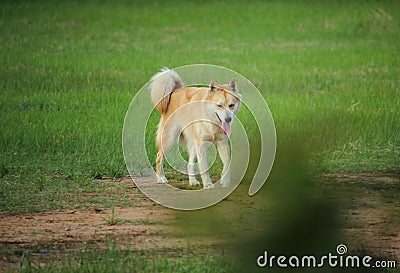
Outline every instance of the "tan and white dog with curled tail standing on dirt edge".
[[232, 122], [239, 111], [241, 98], [236, 81], [218, 85], [212, 79], [208, 87], [185, 86], [180, 76], [163, 68], [150, 83], [151, 99], [161, 113], [156, 147], [157, 183], [168, 183], [164, 174], [164, 157], [179, 140], [186, 146], [189, 162], [189, 185], [200, 185], [195, 175], [195, 160], [199, 166], [204, 189], [214, 188], [208, 173], [207, 146], [215, 143], [223, 163], [220, 183], [230, 183], [229, 135]]

